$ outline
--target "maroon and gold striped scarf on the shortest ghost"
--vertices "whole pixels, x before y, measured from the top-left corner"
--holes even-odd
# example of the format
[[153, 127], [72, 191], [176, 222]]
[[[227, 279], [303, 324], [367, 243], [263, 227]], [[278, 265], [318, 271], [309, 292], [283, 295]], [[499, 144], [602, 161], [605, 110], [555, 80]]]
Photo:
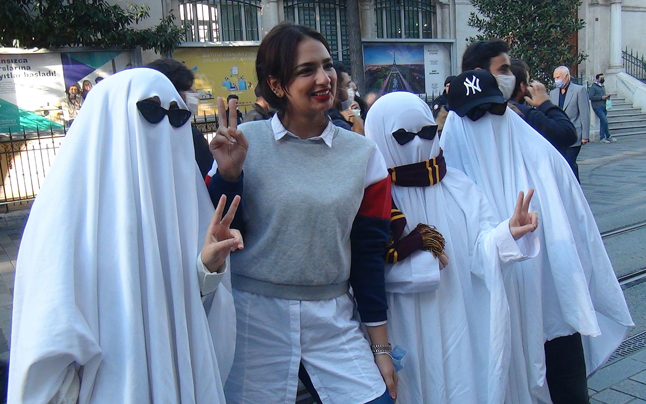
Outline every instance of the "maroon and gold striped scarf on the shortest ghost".
[[[437, 157], [419, 163], [400, 165], [388, 169], [391, 182], [402, 187], [428, 187], [439, 183], [446, 175], [446, 162], [442, 149]], [[444, 237], [434, 227], [420, 223], [402, 239], [406, 216], [395, 206], [390, 210], [390, 242], [386, 248], [386, 262], [406, 259], [417, 250], [430, 251], [439, 257], [444, 253]]]

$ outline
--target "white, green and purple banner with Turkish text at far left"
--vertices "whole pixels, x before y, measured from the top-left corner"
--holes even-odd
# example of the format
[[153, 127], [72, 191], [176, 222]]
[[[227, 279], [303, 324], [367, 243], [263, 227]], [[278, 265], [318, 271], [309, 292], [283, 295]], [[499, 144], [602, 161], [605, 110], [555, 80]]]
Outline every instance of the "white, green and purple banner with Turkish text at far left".
[[92, 86], [131, 65], [121, 50], [0, 53], [0, 133], [70, 125]]

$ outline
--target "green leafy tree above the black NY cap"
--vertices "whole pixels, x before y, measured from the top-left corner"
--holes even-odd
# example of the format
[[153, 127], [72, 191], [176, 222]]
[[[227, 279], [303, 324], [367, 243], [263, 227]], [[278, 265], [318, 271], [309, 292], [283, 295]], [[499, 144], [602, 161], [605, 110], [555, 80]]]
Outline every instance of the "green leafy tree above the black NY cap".
[[500, 38], [509, 43], [512, 58], [523, 59], [530, 75], [552, 81], [559, 65], [572, 67], [587, 58], [577, 54], [570, 37], [585, 23], [577, 17], [579, 0], [472, 0], [478, 13], [469, 25], [480, 34], [470, 41]]

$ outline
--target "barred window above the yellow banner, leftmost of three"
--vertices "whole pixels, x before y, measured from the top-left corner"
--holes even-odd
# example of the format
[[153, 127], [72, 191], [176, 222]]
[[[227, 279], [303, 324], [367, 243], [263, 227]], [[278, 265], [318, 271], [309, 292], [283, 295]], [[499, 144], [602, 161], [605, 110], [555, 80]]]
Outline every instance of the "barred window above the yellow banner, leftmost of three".
[[187, 42], [258, 41], [260, 0], [180, 0]]

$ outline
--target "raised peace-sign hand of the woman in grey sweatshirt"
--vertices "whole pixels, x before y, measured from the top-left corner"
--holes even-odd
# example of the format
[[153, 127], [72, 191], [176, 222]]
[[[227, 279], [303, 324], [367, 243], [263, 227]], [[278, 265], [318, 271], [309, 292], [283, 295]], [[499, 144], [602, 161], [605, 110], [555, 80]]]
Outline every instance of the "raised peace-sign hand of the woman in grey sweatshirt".
[[218, 130], [209, 144], [209, 150], [218, 163], [220, 176], [227, 181], [236, 181], [242, 173], [242, 164], [249, 143], [242, 132], [238, 131], [238, 111], [234, 100], [229, 100], [229, 122], [222, 97], [218, 97]]

